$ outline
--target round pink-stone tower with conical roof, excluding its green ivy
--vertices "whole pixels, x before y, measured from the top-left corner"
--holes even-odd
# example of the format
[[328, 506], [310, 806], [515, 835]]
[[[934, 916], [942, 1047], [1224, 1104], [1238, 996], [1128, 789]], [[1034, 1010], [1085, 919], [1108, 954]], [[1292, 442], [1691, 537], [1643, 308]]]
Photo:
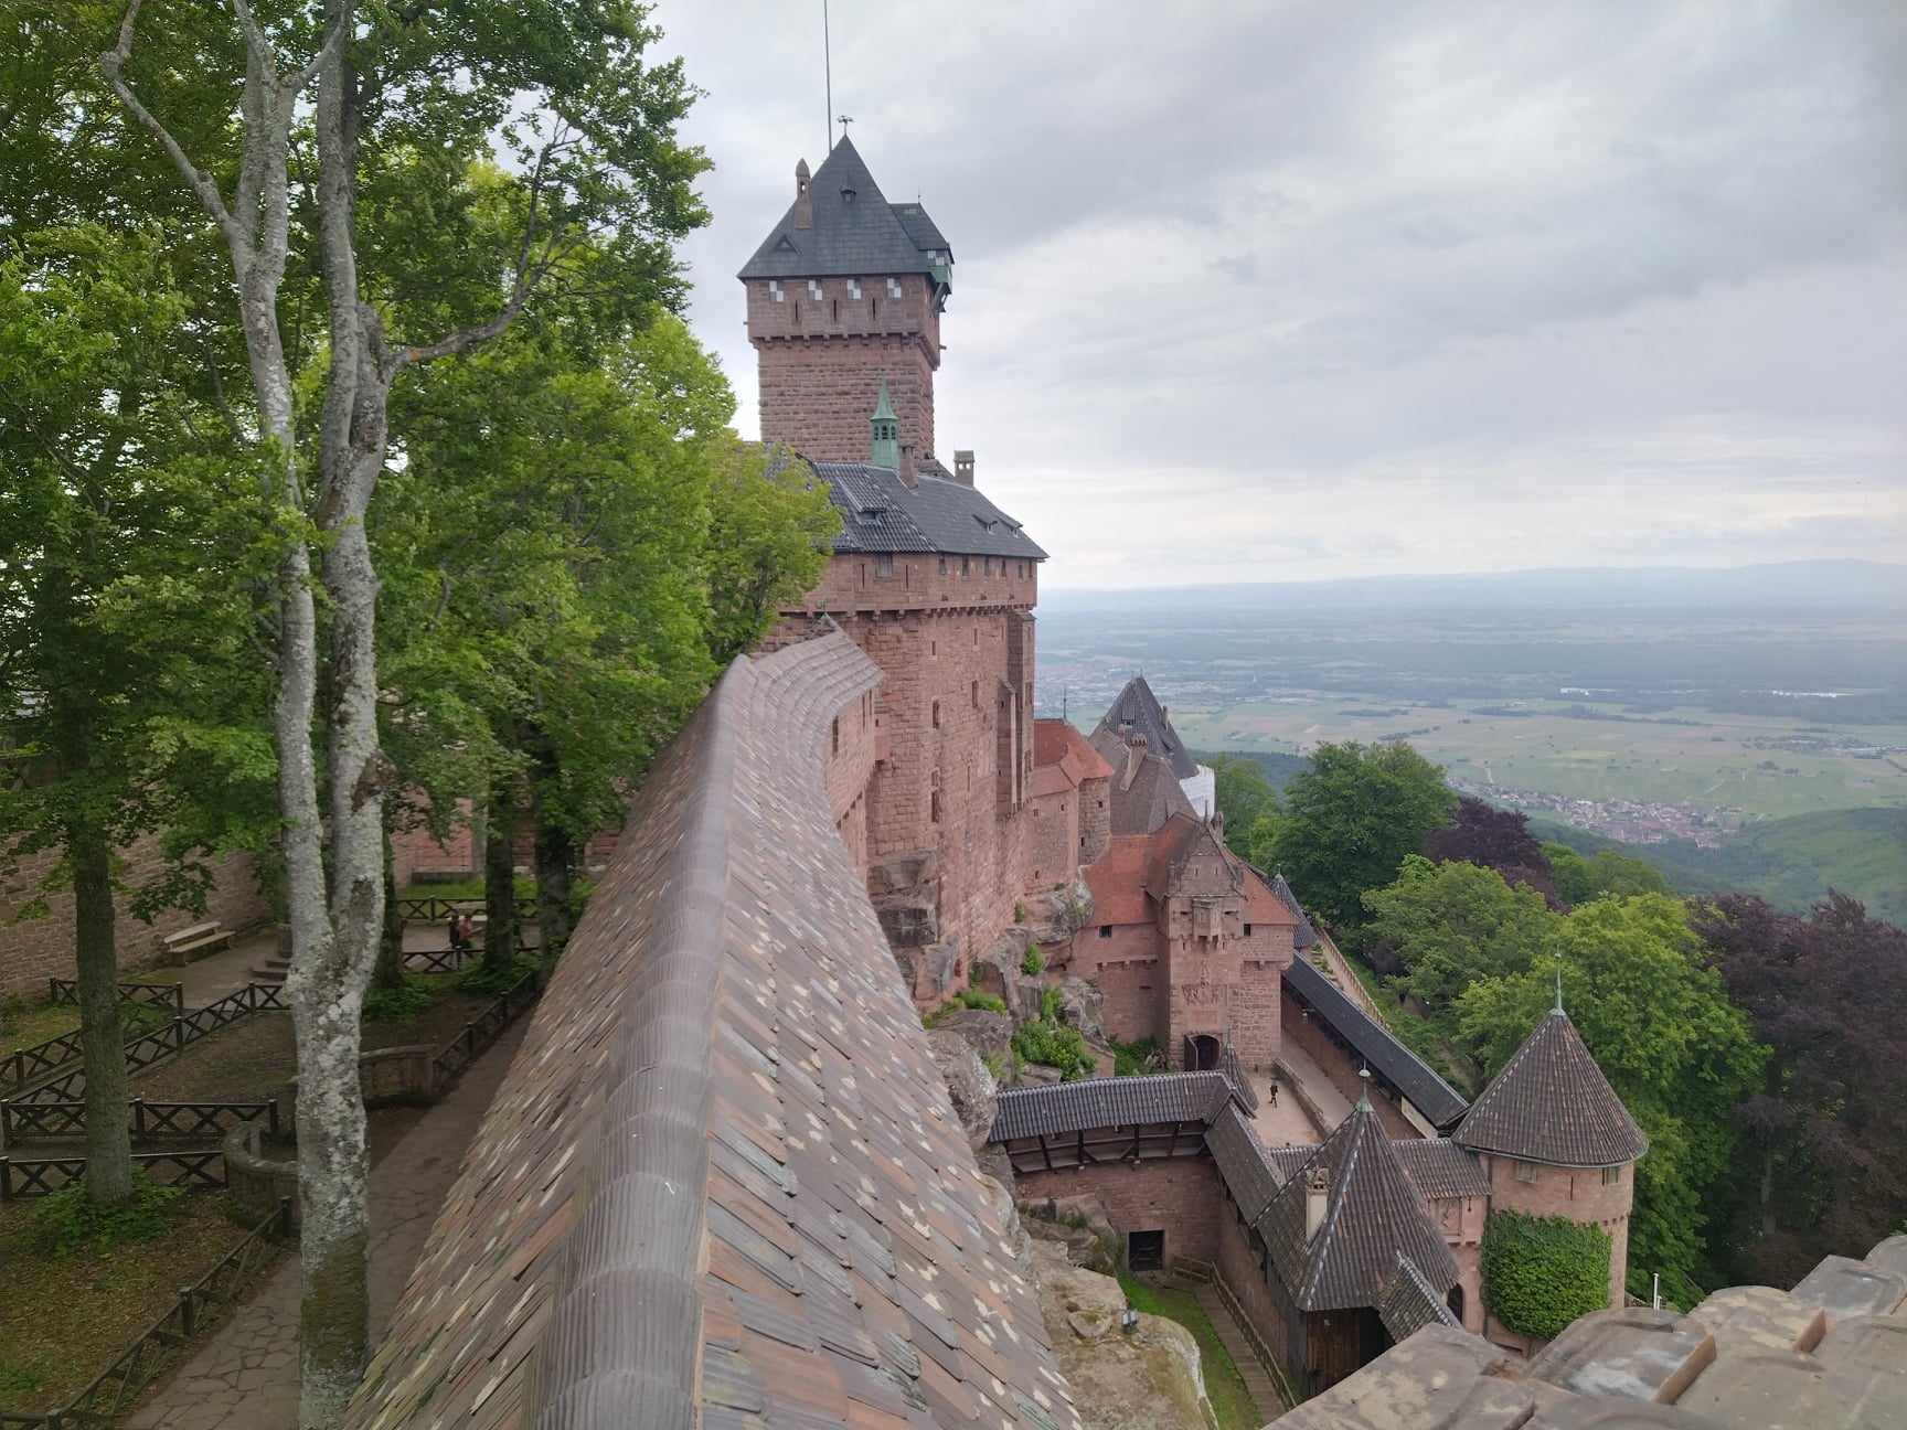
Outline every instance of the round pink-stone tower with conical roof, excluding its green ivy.
[[1568, 1216], [1610, 1234], [1610, 1304], [1623, 1304], [1636, 1159], [1648, 1152], [1583, 1035], [1556, 1007], [1457, 1125], [1484, 1163], [1491, 1211]]

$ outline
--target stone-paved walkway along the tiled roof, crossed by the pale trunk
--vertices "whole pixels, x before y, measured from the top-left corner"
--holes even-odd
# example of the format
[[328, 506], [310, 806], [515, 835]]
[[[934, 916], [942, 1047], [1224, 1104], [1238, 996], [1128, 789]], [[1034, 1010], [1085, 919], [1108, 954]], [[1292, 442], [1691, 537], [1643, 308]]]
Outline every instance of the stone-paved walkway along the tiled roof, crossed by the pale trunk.
[[[225, 955], [219, 955], [225, 957]], [[210, 963], [210, 959], [204, 959]], [[198, 965], [193, 965], [198, 967]], [[191, 1001], [191, 997], [187, 999]], [[477, 1123], [496, 1094], [530, 1018], [521, 1016], [469, 1066], [442, 1102], [406, 1123], [372, 1117], [370, 1335], [383, 1335], [391, 1308], [423, 1251], [431, 1222]], [[395, 1144], [379, 1142], [397, 1131]], [[297, 1424], [297, 1255], [286, 1256], [252, 1298], [174, 1373], [124, 1430], [294, 1430]]]

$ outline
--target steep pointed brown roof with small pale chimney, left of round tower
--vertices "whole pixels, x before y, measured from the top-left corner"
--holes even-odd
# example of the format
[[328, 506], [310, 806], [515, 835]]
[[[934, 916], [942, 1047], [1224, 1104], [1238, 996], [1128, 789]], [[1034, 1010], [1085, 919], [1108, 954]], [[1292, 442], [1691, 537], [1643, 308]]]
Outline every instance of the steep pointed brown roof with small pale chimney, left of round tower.
[[[1308, 1237], [1308, 1180], [1320, 1165], [1329, 1175], [1325, 1213]], [[1278, 1190], [1259, 1234], [1299, 1310], [1377, 1306], [1400, 1251], [1440, 1287], [1440, 1297], [1457, 1285], [1457, 1260], [1367, 1098]]]

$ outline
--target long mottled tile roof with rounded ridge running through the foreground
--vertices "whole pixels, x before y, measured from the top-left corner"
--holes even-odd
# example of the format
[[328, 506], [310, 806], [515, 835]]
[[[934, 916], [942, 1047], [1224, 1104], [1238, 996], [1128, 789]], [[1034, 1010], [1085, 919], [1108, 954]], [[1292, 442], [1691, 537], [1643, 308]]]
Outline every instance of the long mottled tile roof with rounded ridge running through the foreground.
[[740, 660], [658, 757], [353, 1430], [1079, 1424], [830, 818], [875, 679]]

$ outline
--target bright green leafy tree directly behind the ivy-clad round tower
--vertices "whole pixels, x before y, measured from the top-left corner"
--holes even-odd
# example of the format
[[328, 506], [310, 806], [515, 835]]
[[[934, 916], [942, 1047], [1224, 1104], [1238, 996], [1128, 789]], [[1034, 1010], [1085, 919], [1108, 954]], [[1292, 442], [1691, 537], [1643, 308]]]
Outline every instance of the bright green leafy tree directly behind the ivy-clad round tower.
[[1760, 1081], [1766, 1049], [1707, 967], [1682, 904], [1636, 894], [1573, 909], [1526, 972], [1465, 990], [1459, 1026], [1487, 1072], [1548, 1012], [1558, 972], [1583, 1043], [1650, 1136], [1629, 1262], [1636, 1274], [1707, 1274], [1705, 1209], [1730, 1171], [1733, 1106]]

